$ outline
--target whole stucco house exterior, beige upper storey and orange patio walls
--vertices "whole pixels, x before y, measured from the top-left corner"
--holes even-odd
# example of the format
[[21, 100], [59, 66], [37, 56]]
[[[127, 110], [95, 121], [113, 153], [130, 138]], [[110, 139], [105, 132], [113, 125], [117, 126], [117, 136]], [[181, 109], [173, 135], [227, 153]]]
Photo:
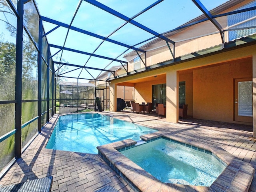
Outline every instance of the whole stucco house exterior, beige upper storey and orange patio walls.
[[[241, 1], [224, 12], [230, 12], [249, 2], [252, 0]], [[217, 14], [221, 13], [218, 12]], [[226, 19], [226, 16], [217, 18], [224, 29], [227, 26]], [[180, 62], [174, 62], [174, 64], [170, 62], [170, 65], [160, 67], [161, 64], [158, 65], [158, 68], [142, 71], [112, 82], [118, 85], [133, 83], [136, 102], [148, 102], [152, 100], [152, 82], [154, 79], [150, 81], [144, 79], [165, 74], [165, 82], [156, 84], [166, 83], [166, 120], [178, 122], [178, 83], [185, 81], [189, 116], [206, 120], [235, 122], [234, 79], [249, 77], [252, 78], [254, 84], [256, 83], [256, 45], [250, 44], [238, 48], [236, 46], [241, 42], [244, 43], [244, 40], [236, 40], [233, 42], [233, 46], [234, 44], [236, 46], [224, 48], [220, 33], [210, 21], [184, 28], [168, 37], [176, 42], [175, 57], [182, 56]], [[228, 41], [228, 32], [225, 32], [224, 40], [225, 42]], [[212, 47], [216, 45], [218, 47]], [[147, 66], [173, 59], [166, 42], [163, 40], [152, 41], [141, 48], [147, 51]], [[174, 52], [171, 44], [170, 48]], [[211, 49], [212, 53], [200, 56], [201, 53], [205, 54]], [[204, 52], [197, 53], [198, 50], [204, 50]], [[138, 57], [136, 52], [130, 52], [124, 56], [128, 61], [128, 71], [134, 70], [133, 61], [136, 57]], [[141, 67], [144, 68], [144, 65], [141, 64]], [[253, 86], [253, 93], [255, 93], [255, 86]], [[255, 103], [255, 94], [253, 97]], [[256, 109], [253, 110], [253, 113], [254, 124], [256, 125]]]

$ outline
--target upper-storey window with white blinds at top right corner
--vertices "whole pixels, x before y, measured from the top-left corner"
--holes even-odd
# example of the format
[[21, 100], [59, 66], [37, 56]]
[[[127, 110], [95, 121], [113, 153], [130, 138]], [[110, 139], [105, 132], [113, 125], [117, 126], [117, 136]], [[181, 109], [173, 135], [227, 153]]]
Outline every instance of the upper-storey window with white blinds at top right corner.
[[[256, 6], [256, 1], [253, 1], [240, 9], [250, 8]], [[256, 10], [233, 14], [228, 16], [228, 28], [244, 28], [256, 26]], [[249, 28], [243, 30], [229, 31], [228, 40], [234, 40], [243, 36], [248, 36], [250, 34], [256, 33], [256, 28]]]

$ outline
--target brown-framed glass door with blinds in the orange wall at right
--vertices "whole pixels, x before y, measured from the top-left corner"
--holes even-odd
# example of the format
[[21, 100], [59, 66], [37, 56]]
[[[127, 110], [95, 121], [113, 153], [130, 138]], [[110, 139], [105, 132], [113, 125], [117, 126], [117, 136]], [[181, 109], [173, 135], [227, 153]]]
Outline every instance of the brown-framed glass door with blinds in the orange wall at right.
[[235, 79], [234, 120], [252, 122], [252, 79]]

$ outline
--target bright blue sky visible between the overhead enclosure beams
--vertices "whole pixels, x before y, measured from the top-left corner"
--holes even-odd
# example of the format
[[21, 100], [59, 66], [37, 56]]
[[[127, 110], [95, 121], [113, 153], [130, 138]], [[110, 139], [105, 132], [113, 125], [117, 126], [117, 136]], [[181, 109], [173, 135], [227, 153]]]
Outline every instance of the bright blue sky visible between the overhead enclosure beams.
[[[202, 4], [204, 4], [208, 10], [215, 8], [226, 1], [227, 0], [201, 0]], [[80, 0], [36, 0], [42, 16], [52, 18], [65, 24], [70, 24], [79, 2]], [[130, 18], [156, 2], [156, 0], [98, 0], [98, 2], [105, 4], [106, 6]], [[197, 16], [200, 16], [201, 14], [202, 12], [191, 0], [164, 0], [160, 4], [154, 6], [154, 8], [136, 17], [134, 20], [155, 32], [162, 33], [172, 30], [193, 18], [196, 18]], [[43, 24], [46, 32], [55, 27], [54, 24], [49, 24], [48, 22], [44, 22]], [[124, 20], [82, 1], [72, 26], [105, 37], [122, 24], [124, 24]], [[47, 36], [48, 42], [58, 46], [64, 46], [67, 31], [68, 30], [63, 27], [56, 29]], [[133, 46], [134, 44], [152, 36], [152, 34], [133, 26], [132, 24], [126, 24], [115, 34], [110, 36], [110, 39]], [[100, 39], [70, 30], [66, 39], [65, 47], [92, 53], [101, 42], [102, 40]], [[141, 45], [137, 47], [140, 46]], [[122, 46], [105, 41], [100, 48], [96, 50], [95, 54], [116, 58], [125, 50], [126, 48]], [[58, 51], [58, 49], [51, 48], [52, 54], [56, 51]], [[128, 52], [130, 51], [131, 50]], [[89, 58], [87, 55], [71, 53], [68, 51], [60, 52], [56, 57], [60, 58], [61, 55], [67, 62], [78, 65], [84, 65]], [[124, 60], [123, 55], [118, 59]], [[104, 68], [108, 64], [110, 64], [110, 60], [92, 57], [86, 66]], [[115, 65], [120, 65], [120, 63], [112, 62], [112, 64], [107, 68]], [[69, 67], [69, 70], [72, 69], [72, 67]], [[77, 76], [79, 72], [75, 71], [72, 72], [72, 74]], [[90, 70], [89, 72], [94, 73]], [[90, 74], [86, 71], [84, 71], [83, 76], [91, 78]], [[97, 74], [93, 74], [93, 76], [96, 77]]]

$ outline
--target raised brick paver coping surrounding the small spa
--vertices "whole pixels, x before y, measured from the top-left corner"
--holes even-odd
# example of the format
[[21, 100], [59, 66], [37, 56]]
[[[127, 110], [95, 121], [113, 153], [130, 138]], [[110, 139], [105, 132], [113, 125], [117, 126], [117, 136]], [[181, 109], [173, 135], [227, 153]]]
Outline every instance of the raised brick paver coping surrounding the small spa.
[[185, 190], [199, 192], [248, 192], [255, 173], [255, 170], [250, 163], [239, 160], [220, 147], [180, 136], [173, 136], [171, 133], [167, 132], [158, 131], [140, 136], [140, 138], [146, 142], [157, 140], [161, 137], [210, 151], [227, 166], [210, 187], [170, 184], [163, 183], [156, 179], [126, 156], [118, 152], [118, 149], [135, 145], [137, 142], [132, 139], [98, 146], [97, 149], [104, 161], [114, 169], [117, 174], [122, 176], [129, 186], [136, 192], [182, 192]]

